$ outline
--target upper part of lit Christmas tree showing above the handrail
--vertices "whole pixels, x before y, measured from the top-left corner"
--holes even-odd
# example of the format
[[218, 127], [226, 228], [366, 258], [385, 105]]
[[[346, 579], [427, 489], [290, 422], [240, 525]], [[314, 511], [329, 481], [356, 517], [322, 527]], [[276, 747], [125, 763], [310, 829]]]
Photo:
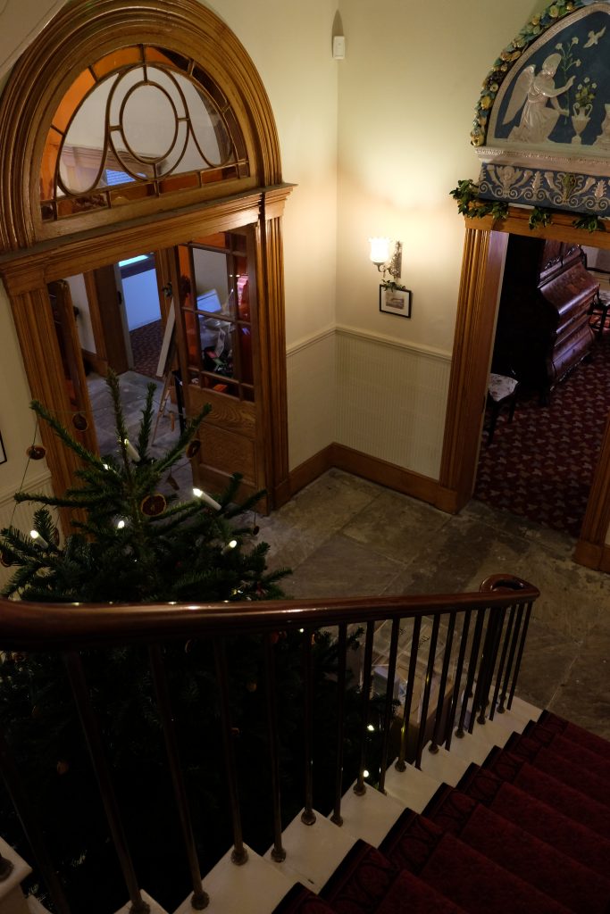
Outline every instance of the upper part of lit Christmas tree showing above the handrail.
[[[255, 530], [238, 520], [247, 516], [262, 493], [235, 503], [241, 477], [234, 474], [219, 501], [198, 495], [177, 502], [159, 491], [178, 461], [194, 456], [195, 437], [209, 412], [190, 420], [176, 443], [159, 458], [150, 456], [155, 385], [147, 389], [137, 440], [129, 440], [119, 380], [108, 375], [116, 426], [117, 453], [99, 456], [82, 447], [41, 403], [32, 409], [61, 441], [78, 454], [79, 484], [61, 497], [17, 493], [16, 501], [37, 502], [33, 535], [14, 527], [2, 530], [3, 562], [16, 566], [4, 596], [38, 601], [155, 602], [169, 600], [261, 600], [280, 596], [277, 581], [287, 571], [266, 570], [268, 547], [250, 550]], [[59, 545], [49, 508], [84, 513], [74, 532]]]

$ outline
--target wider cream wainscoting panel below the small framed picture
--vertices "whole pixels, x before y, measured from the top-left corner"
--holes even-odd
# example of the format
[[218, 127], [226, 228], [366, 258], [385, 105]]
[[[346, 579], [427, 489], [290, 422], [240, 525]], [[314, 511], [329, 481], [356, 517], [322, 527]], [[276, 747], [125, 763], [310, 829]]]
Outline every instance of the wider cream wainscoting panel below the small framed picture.
[[439, 478], [447, 353], [337, 327], [338, 444]]

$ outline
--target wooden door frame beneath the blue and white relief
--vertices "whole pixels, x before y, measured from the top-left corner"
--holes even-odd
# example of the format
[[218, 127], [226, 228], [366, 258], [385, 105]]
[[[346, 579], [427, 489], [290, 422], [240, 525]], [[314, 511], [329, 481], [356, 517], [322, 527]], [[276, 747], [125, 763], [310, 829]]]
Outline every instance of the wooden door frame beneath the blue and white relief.
[[[573, 217], [553, 216], [546, 228], [529, 228], [529, 211], [510, 207], [501, 221], [466, 218], [462, 277], [455, 322], [454, 354], [444, 430], [437, 506], [457, 512], [476, 483], [478, 449], [487, 393], [498, 299], [508, 234], [556, 239], [610, 250], [610, 236], [573, 228]], [[594, 471], [574, 560], [610, 571], [610, 414]]]

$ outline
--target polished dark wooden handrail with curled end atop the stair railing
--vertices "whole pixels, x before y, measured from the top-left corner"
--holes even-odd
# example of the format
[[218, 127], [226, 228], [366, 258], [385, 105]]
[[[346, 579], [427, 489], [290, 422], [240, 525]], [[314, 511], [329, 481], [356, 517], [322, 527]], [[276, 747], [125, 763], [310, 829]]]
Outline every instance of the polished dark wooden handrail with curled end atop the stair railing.
[[30, 603], [0, 598], [0, 648], [70, 651], [179, 639], [195, 634], [214, 635], [228, 631], [241, 634], [307, 624], [323, 627], [340, 622], [375, 622], [484, 607], [501, 609], [510, 606], [516, 597], [519, 601], [533, 601], [539, 596], [540, 591], [527, 581], [494, 575], [483, 582], [481, 590], [472, 593], [353, 600], [261, 600], [223, 605]]

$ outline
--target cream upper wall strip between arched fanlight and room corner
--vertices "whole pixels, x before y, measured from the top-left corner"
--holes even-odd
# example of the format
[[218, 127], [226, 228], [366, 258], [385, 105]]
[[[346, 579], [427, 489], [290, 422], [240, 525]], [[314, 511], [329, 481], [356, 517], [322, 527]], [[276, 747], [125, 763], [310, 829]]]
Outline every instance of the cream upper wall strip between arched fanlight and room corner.
[[216, 0], [209, 7], [240, 38], [261, 74], [284, 181], [296, 185], [284, 215], [290, 346], [335, 318], [338, 63], [331, 39], [337, 3]]

